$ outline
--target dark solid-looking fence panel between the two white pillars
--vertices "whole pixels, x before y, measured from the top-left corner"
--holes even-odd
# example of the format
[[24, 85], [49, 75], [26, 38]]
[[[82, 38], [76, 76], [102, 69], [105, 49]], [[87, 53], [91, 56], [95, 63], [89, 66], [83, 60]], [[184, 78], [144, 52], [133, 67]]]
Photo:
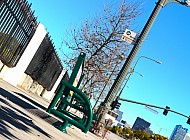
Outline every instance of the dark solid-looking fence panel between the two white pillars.
[[51, 90], [60, 75], [63, 66], [48, 34], [43, 39], [25, 73]]

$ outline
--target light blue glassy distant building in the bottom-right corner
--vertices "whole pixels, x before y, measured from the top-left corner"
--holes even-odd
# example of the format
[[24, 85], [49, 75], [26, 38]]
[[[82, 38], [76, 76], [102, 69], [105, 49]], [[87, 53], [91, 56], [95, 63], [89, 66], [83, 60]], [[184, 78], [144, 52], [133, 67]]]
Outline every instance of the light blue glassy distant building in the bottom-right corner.
[[188, 129], [183, 128], [182, 125], [176, 125], [171, 136], [170, 140], [184, 140], [185, 135], [187, 134]]

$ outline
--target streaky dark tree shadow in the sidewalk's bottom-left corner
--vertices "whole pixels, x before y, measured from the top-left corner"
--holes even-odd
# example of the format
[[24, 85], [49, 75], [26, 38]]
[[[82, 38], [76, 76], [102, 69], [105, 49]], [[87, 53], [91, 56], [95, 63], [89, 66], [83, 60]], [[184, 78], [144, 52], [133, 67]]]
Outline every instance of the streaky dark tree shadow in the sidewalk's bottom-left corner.
[[36, 126], [32, 119], [25, 113], [21, 112], [17, 108], [10, 105], [6, 100], [0, 99], [1, 103], [6, 106], [0, 108], [0, 134], [7, 139], [18, 139], [15, 135], [12, 135], [9, 129], [19, 129], [26, 133], [32, 133], [31, 128], [34, 128], [43, 135], [51, 138], [52, 136], [43, 131], [40, 127]]

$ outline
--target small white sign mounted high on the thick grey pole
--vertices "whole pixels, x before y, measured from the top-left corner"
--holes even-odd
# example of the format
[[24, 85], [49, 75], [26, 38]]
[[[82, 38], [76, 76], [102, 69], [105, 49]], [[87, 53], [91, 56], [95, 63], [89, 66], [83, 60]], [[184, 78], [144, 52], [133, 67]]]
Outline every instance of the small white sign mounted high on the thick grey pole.
[[129, 29], [126, 29], [124, 34], [122, 35], [122, 40], [134, 44], [136, 41], [137, 34]]

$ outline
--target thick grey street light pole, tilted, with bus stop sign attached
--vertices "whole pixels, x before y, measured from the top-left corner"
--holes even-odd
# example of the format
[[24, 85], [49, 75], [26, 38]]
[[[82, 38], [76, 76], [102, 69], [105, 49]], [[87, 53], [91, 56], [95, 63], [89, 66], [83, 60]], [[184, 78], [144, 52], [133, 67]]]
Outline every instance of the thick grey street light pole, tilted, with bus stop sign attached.
[[131, 66], [134, 58], [136, 57], [143, 41], [145, 40], [146, 36], [148, 35], [148, 32], [151, 29], [151, 27], [152, 27], [156, 17], [158, 16], [161, 8], [170, 2], [177, 2], [179, 4], [189, 6], [189, 0], [185, 0], [184, 2], [181, 2], [181, 0], [158, 0], [154, 10], [152, 11], [148, 21], [146, 22], [146, 24], [144, 26], [141, 34], [137, 38], [137, 40], [134, 44], [134, 47], [132, 48], [129, 56], [127, 57], [125, 63], [123, 64], [121, 71], [119, 72], [116, 80], [114, 81], [114, 83], [113, 83], [110, 91], [108, 92], [104, 102], [101, 104], [103, 109], [102, 109], [101, 115], [99, 115], [100, 117], [98, 118], [100, 120], [100, 122], [104, 122], [103, 121], [104, 116], [108, 112], [108, 110], [110, 108], [110, 104], [114, 100], [114, 97], [118, 93], [123, 81], [125, 80], [125, 77], [126, 77], [128, 71], [130, 69], [130, 66]]

